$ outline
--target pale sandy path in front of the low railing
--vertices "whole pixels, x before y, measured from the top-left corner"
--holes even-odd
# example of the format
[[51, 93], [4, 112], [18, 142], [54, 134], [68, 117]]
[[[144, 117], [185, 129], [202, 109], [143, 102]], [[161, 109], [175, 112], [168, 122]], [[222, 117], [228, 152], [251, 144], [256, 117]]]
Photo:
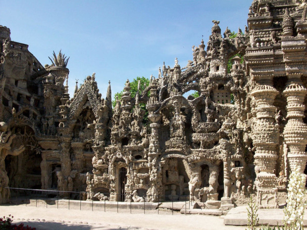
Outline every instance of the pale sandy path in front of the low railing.
[[130, 214], [89, 210], [68, 210], [25, 205], [2, 205], [0, 216], [14, 216], [14, 222], [37, 230], [245, 230], [224, 226], [223, 218], [206, 215]]

